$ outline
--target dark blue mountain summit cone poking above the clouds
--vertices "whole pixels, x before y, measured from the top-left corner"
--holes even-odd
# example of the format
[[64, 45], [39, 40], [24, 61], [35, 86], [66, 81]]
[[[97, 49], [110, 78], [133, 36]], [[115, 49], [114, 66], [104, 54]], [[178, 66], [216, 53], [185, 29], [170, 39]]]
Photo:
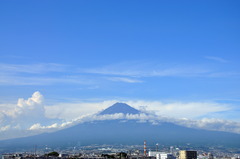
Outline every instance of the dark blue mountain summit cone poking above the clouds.
[[100, 112], [98, 115], [107, 115], [107, 114], [140, 114], [141, 111], [125, 104], [125, 103], [115, 103], [112, 106], [108, 107], [107, 109]]

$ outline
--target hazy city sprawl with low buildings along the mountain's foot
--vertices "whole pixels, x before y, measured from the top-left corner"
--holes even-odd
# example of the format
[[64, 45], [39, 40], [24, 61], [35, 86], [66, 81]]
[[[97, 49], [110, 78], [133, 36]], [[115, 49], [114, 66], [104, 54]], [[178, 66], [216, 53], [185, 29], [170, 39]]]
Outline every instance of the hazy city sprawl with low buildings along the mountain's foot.
[[2, 159], [240, 159], [239, 149], [230, 148], [178, 148], [158, 143], [144, 145], [91, 145], [69, 147], [65, 150], [50, 147], [33, 148], [31, 152], [4, 153]]

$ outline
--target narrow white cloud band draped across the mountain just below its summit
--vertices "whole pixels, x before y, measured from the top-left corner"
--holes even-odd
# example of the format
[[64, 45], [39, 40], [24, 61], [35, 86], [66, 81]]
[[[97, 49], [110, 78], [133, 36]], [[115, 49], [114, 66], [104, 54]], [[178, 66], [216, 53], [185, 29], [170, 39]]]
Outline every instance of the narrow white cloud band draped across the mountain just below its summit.
[[136, 120], [140, 123], [149, 122], [153, 125], [161, 124], [162, 122], [170, 122], [177, 125], [186, 126], [189, 128], [198, 128], [205, 130], [215, 130], [215, 131], [224, 131], [224, 132], [233, 132], [240, 134], [240, 122], [234, 122], [229, 120], [222, 119], [213, 119], [213, 118], [203, 118], [201, 120], [193, 120], [187, 118], [171, 118], [171, 117], [161, 117], [155, 114], [106, 114], [106, 115], [85, 115], [78, 119], [65, 122], [62, 124], [52, 124], [48, 126], [41, 126], [39, 123], [32, 125], [29, 130], [31, 131], [54, 131], [63, 129], [75, 124], [84, 123], [84, 122], [92, 122], [92, 121], [103, 121], [103, 120], [119, 120], [121, 119], [123, 122], [127, 120]]

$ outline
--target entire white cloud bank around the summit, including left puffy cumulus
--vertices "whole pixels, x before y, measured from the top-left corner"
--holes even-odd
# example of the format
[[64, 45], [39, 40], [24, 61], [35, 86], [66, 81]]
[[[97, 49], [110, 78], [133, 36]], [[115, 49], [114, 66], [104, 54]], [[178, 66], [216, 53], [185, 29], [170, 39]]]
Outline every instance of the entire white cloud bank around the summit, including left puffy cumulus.
[[[6, 108], [1, 109], [0, 139], [56, 131], [84, 122], [116, 119], [121, 119], [123, 122], [137, 120], [137, 122], [149, 122], [154, 125], [170, 122], [190, 128], [240, 134], [239, 121], [218, 119], [211, 116], [211, 114], [218, 112], [231, 111], [232, 107], [228, 104], [128, 100], [122, 102], [141, 110], [142, 113], [98, 115], [98, 112], [116, 102], [119, 101], [106, 100], [46, 105], [43, 95], [37, 91], [30, 98], [19, 98], [15, 105], [6, 104]], [[0, 107], [4, 108], [4, 104], [1, 104]]]

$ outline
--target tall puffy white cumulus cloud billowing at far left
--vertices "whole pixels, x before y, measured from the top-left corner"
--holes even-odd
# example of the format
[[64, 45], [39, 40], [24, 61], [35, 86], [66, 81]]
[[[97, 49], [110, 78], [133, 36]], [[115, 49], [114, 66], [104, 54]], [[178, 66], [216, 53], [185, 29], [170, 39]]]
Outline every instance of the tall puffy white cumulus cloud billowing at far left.
[[[1, 105], [3, 107], [4, 104]], [[49, 124], [51, 119], [46, 118], [44, 108], [44, 97], [36, 91], [28, 99], [19, 98], [18, 102], [11, 108], [0, 111], [0, 131], [26, 130], [34, 123]], [[0, 134], [1, 138], [1, 134]]]

